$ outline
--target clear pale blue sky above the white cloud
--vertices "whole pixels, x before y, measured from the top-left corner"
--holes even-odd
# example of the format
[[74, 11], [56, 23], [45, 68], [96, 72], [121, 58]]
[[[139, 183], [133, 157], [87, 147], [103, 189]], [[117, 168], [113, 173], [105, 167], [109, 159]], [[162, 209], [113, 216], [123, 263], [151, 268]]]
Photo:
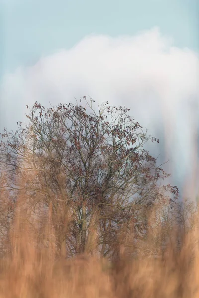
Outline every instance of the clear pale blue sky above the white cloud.
[[174, 45], [199, 51], [198, 0], [0, 0], [0, 12], [1, 75], [91, 33], [115, 37], [158, 26]]

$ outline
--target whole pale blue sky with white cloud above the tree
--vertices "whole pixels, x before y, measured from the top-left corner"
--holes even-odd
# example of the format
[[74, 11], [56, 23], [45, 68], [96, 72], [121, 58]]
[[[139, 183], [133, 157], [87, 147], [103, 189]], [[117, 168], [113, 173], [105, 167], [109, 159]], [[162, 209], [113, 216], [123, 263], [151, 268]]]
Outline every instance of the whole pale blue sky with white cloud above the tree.
[[175, 183], [193, 181], [198, 16], [198, 0], [0, 0], [0, 130], [36, 100], [108, 100], [160, 138], [149, 149]]

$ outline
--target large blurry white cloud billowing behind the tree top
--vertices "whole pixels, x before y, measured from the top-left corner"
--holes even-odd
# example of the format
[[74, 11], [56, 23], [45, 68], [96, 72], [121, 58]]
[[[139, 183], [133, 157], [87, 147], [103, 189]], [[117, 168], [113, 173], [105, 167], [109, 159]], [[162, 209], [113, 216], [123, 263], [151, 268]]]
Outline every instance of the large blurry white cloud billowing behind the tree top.
[[165, 132], [169, 157], [189, 165], [190, 119], [199, 119], [199, 56], [172, 47], [157, 28], [136, 36], [88, 36], [70, 50], [6, 74], [1, 92], [2, 124], [9, 128], [36, 100], [48, 105], [90, 95], [125, 105], [150, 133]]

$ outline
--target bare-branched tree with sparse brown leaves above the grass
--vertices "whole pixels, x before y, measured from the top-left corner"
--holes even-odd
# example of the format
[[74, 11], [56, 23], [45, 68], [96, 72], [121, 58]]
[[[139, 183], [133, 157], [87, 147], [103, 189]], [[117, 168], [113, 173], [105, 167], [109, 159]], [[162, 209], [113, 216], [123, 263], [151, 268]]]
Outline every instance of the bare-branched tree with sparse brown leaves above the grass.
[[37, 102], [27, 106], [28, 124], [19, 122], [16, 132], [1, 135], [0, 165], [6, 190], [17, 193], [26, 178], [28, 202], [34, 208], [42, 202], [46, 212], [52, 206], [59, 254], [95, 247], [106, 256], [137, 206], [163, 200], [162, 189], [172, 202], [178, 189], [158, 185], [168, 174], [144, 146], [159, 140], [147, 136], [129, 109], [106, 102], [96, 112], [93, 99], [81, 100], [86, 106], [77, 101], [48, 109]]

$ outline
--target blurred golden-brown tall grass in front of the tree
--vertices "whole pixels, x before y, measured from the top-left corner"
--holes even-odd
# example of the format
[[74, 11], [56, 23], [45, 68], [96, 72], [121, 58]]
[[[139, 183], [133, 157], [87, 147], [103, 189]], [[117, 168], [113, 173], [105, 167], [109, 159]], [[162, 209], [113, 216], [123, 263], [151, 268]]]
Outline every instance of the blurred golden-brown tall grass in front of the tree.
[[124, 244], [112, 261], [97, 255], [57, 259], [50, 213], [45, 221], [28, 213], [25, 195], [20, 193], [9, 233], [1, 243], [0, 298], [198, 298], [197, 209], [189, 213], [187, 229], [167, 226], [169, 241], [164, 249], [157, 239], [164, 237], [165, 229], [156, 222], [155, 212], [151, 213], [153, 228], [134, 248], [124, 229]]

